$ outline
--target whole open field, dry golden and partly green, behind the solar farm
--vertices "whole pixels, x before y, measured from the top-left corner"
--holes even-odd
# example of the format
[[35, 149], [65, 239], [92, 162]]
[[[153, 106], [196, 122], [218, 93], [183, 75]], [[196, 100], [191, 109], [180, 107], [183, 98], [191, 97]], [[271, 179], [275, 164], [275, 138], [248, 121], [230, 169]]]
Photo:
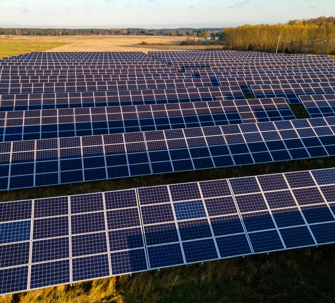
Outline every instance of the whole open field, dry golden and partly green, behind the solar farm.
[[[0, 58], [30, 52], [145, 52], [186, 51], [185, 36], [0, 36]], [[139, 45], [142, 41], [147, 45]], [[40, 47], [41, 46], [41, 47]], [[205, 46], [199, 46], [204, 49]], [[18, 51], [20, 49], [20, 51]]]

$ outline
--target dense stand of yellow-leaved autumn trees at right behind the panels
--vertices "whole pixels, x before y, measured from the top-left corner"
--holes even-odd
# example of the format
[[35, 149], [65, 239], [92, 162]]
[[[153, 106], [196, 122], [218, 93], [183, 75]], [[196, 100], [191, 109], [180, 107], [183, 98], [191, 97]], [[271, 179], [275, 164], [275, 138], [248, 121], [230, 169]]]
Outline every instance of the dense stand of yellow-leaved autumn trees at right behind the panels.
[[334, 21], [246, 24], [223, 28], [219, 39], [223, 48], [230, 50], [274, 53], [278, 48], [278, 53], [335, 54]]

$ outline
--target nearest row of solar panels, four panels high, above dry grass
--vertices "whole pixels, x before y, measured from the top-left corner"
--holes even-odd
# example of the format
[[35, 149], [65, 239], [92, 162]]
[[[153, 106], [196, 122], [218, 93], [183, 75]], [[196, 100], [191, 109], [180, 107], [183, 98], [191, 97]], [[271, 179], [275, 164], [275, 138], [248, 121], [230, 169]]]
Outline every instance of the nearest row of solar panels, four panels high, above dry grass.
[[334, 169], [0, 203], [0, 293], [335, 242]]

